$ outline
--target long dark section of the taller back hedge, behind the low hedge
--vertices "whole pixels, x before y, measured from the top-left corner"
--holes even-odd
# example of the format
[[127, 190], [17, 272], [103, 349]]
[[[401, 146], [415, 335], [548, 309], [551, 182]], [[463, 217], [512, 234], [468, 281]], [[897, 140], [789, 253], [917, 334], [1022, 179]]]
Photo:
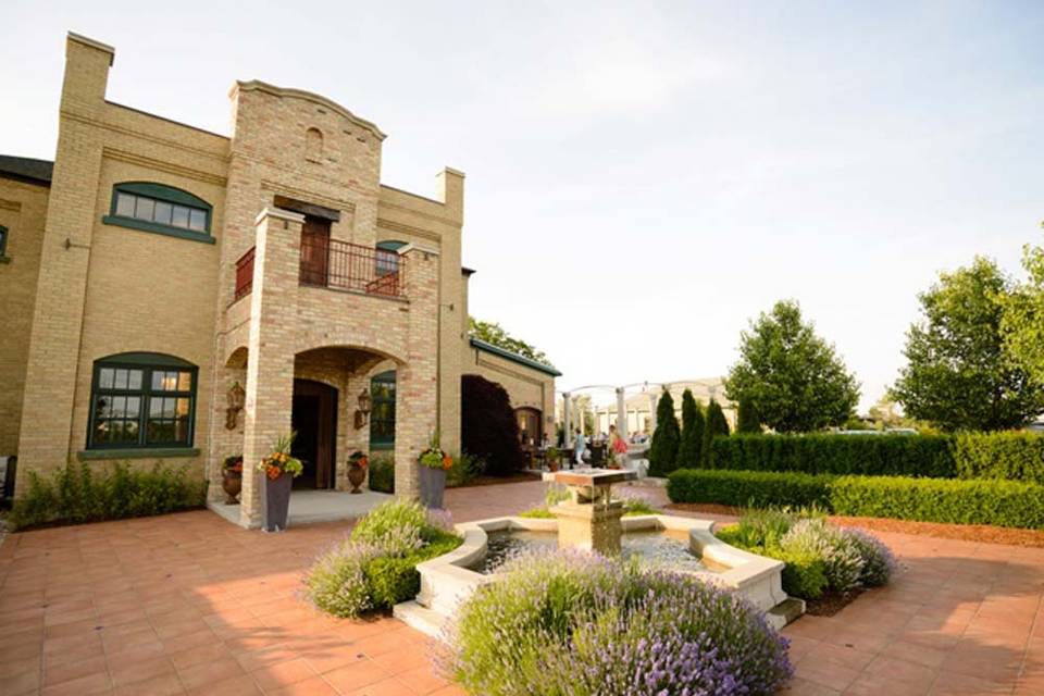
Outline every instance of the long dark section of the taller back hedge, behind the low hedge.
[[945, 435], [734, 435], [712, 444], [712, 469], [869, 476], [957, 475]]

